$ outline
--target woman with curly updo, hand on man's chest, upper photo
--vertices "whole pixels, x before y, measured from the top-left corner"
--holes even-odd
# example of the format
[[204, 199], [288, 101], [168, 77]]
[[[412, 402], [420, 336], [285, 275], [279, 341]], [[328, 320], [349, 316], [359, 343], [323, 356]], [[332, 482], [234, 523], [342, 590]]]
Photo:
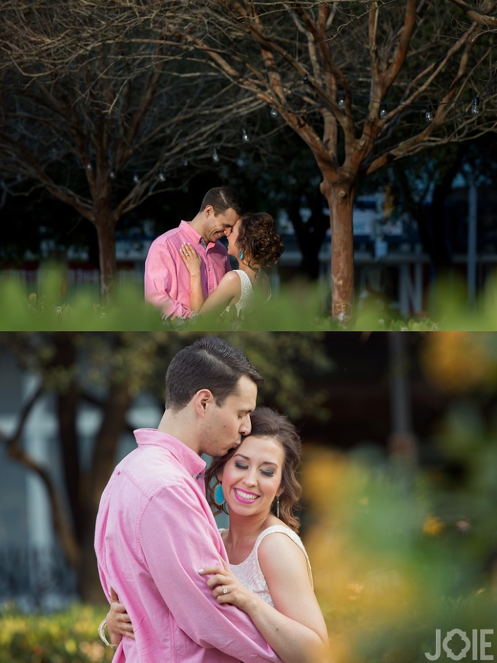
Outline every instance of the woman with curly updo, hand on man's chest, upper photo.
[[235, 306], [237, 318], [253, 310], [254, 300], [266, 302], [271, 287], [264, 267], [274, 265], [283, 253], [276, 223], [266, 212], [246, 213], [228, 237], [228, 254], [238, 261], [238, 269], [227, 272], [217, 288], [204, 301], [200, 280], [200, 257], [192, 244], [183, 244], [181, 255], [190, 272], [190, 307], [201, 316], [219, 316]]

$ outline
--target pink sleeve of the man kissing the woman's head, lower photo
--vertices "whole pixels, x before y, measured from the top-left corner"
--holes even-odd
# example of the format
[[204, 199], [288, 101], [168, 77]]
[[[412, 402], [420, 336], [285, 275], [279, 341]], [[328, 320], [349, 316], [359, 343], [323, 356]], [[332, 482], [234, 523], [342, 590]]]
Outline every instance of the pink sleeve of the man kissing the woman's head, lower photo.
[[199, 575], [205, 566], [221, 565], [223, 546], [191, 487], [175, 485], [154, 495], [142, 514], [138, 538], [154, 584], [178, 627], [194, 642], [244, 662], [280, 662], [249, 616], [233, 605], [219, 605], [207, 576]]

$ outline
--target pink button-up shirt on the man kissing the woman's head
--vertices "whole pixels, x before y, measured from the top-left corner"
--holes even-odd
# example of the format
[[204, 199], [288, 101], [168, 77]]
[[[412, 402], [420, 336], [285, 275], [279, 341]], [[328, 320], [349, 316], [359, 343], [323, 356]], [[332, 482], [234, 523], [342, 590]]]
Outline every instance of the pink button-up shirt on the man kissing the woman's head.
[[227, 555], [205, 499], [205, 462], [176, 438], [135, 431], [138, 449], [101, 497], [95, 551], [103, 589], [125, 604], [136, 640], [114, 663], [235, 663], [280, 659], [249, 617], [212, 598], [197, 570]]

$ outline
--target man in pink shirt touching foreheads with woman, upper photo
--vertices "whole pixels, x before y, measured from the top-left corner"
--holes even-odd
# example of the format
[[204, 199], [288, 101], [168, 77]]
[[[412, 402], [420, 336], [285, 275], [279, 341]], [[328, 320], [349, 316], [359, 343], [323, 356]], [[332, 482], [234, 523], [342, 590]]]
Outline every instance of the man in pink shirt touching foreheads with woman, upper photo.
[[231, 186], [209, 189], [193, 221], [182, 221], [152, 242], [145, 261], [145, 299], [164, 316], [190, 318], [190, 272], [181, 246], [191, 244], [201, 257], [202, 290], [207, 298], [231, 270], [219, 239], [229, 237], [242, 211], [240, 196]]

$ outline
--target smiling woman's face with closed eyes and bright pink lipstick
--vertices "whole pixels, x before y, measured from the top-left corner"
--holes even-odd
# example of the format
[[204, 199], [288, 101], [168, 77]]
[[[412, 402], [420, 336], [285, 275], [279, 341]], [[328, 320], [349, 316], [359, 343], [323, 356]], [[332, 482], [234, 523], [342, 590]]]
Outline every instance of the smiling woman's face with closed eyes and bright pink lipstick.
[[249, 436], [226, 461], [219, 481], [230, 514], [266, 516], [283, 487], [285, 452], [274, 438]]

